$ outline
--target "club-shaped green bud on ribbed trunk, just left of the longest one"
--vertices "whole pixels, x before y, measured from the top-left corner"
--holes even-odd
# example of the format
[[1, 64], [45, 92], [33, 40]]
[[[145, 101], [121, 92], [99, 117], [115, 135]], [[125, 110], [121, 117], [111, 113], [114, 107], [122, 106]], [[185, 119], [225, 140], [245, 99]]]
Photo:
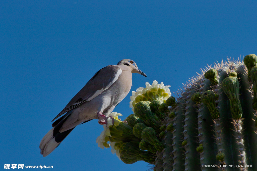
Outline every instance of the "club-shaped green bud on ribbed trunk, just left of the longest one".
[[216, 108], [217, 96], [213, 91], [206, 91], [201, 95], [201, 101], [208, 107], [213, 119], [219, 118], [219, 110]]

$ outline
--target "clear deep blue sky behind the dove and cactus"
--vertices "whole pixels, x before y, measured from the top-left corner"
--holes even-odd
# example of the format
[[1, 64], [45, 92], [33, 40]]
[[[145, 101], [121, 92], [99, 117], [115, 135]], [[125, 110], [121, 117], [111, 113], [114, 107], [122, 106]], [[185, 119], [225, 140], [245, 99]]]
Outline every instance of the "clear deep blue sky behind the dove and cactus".
[[[0, 22], [0, 170], [147, 170], [97, 147], [97, 120], [77, 126], [47, 157], [39, 143], [107, 65], [136, 62], [147, 77], [133, 74], [131, 91], [155, 79], [175, 92], [207, 63], [257, 54], [256, 1], [1, 1]], [[122, 119], [132, 113], [130, 96], [114, 109]]]

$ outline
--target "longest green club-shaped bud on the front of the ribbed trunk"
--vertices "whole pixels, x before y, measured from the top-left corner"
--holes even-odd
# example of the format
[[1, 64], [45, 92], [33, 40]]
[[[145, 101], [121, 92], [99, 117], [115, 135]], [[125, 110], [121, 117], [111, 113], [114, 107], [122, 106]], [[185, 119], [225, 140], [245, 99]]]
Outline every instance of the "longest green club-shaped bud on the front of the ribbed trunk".
[[242, 107], [239, 101], [239, 83], [235, 77], [227, 77], [222, 81], [222, 89], [229, 98], [230, 110], [234, 119], [242, 117]]

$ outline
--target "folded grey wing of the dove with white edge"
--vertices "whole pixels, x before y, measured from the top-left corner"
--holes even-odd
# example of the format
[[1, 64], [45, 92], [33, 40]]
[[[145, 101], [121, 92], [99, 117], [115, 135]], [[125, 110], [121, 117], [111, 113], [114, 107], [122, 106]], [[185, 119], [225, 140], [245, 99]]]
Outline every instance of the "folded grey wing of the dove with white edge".
[[108, 65], [100, 69], [53, 120], [101, 94], [117, 81], [121, 73], [122, 69], [116, 65]]

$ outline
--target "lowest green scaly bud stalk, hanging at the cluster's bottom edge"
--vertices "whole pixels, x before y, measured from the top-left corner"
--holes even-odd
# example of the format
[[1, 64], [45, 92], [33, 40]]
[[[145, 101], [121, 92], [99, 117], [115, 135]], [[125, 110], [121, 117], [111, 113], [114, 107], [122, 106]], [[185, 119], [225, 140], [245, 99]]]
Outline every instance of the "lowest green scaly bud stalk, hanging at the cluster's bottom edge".
[[139, 149], [137, 144], [130, 142], [122, 143], [120, 146], [121, 160], [126, 164], [133, 164], [137, 161], [143, 160], [147, 163], [154, 163], [154, 155], [150, 152], [145, 152]]

